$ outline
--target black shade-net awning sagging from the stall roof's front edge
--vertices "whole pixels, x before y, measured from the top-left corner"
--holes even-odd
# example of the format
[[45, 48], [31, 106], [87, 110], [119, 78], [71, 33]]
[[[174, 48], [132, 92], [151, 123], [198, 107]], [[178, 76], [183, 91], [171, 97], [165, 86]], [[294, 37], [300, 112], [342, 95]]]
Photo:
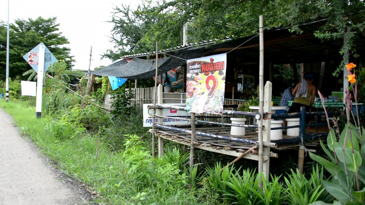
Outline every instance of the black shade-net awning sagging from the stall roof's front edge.
[[[176, 67], [186, 65], [186, 59], [199, 58], [208, 54], [213, 49], [193, 49], [178, 51], [174, 56], [169, 56], [166, 58], [158, 59], [158, 75], [166, 73]], [[177, 58], [176, 58], [177, 57]], [[141, 59], [133, 58], [130, 62], [127, 59], [113, 63], [106, 66], [100, 70], [90, 72], [90, 74], [95, 74], [99, 76], [114, 76], [120, 78], [134, 79], [146, 79], [155, 76], [156, 72], [155, 59]]]

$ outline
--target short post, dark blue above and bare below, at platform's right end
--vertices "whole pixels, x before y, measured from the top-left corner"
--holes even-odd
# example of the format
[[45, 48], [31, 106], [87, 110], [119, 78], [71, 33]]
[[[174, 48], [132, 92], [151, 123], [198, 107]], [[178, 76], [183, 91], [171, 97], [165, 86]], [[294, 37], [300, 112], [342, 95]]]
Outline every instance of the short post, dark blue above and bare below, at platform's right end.
[[304, 143], [306, 141], [306, 107], [300, 107], [300, 120], [299, 120], [299, 153], [298, 153], [298, 170], [300, 174], [303, 174], [304, 167]]

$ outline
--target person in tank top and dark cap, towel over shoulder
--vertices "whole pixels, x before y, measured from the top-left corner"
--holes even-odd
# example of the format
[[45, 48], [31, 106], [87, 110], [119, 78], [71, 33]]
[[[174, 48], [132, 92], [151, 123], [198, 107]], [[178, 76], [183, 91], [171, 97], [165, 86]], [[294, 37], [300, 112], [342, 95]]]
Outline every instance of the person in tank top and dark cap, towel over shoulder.
[[[306, 74], [305, 78], [296, 84], [293, 89], [294, 101], [289, 108], [288, 113], [300, 112], [300, 107], [306, 107], [306, 112], [310, 112], [310, 109], [314, 103], [316, 94], [316, 87], [312, 84], [313, 74]], [[306, 124], [311, 121], [310, 116], [306, 116]]]

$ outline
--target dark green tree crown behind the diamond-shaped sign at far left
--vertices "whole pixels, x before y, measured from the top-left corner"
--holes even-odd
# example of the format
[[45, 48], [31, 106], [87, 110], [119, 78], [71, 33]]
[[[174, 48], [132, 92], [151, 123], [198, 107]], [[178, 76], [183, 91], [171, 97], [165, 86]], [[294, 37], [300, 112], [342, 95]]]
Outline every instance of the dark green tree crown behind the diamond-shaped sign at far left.
[[[65, 47], [69, 41], [62, 32], [58, 32], [57, 18], [28, 20], [17, 19], [10, 24], [9, 32], [9, 77], [26, 79], [22, 74], [31, 69], [23, 55], [43, 42], [51, 53], [58, 59], [64, 60], [68, 69], [72, 68], [73, 56], [70, 49]], [[5, 79], [6, 68], [7, 23], [0, 22], [0, 79]]]

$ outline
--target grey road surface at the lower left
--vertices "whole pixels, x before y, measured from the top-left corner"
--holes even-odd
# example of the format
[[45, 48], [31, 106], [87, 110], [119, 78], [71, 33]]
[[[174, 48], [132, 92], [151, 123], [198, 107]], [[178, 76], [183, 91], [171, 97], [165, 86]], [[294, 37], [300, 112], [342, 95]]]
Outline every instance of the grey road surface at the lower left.
[[89, 204], [89, 192], [47, 161], [0, 108], [0, 204]]

